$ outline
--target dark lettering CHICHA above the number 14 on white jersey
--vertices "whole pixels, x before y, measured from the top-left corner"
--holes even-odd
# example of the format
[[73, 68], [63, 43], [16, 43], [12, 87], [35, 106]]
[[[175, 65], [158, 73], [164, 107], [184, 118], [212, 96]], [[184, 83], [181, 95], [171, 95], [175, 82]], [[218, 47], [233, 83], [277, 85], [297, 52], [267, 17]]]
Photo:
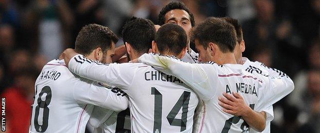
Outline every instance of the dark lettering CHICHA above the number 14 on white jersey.
[[152, 80], [159, 80], [165, 82], [174, 82], [174, 83], [183, 83], [180, 79], [172, 76], [167, 75], [163, 72], [159, 71], [148, 71], [145, 73], [145, 80], [152, 81]]

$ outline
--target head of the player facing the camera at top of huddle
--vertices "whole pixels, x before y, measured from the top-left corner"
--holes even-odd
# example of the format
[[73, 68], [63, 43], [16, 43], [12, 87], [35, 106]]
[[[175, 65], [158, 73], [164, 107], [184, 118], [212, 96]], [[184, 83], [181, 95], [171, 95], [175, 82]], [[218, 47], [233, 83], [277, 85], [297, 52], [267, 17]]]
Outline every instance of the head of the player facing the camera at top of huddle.
[[194, 27], [194, 16], [189, 11], [189, 8], [182, 2], [170, 2], [166, 5], [159, 13], [158, 16], [159, 25], [164, 24], [177, 24], [181, 26], [188, 35], [189, 32]]

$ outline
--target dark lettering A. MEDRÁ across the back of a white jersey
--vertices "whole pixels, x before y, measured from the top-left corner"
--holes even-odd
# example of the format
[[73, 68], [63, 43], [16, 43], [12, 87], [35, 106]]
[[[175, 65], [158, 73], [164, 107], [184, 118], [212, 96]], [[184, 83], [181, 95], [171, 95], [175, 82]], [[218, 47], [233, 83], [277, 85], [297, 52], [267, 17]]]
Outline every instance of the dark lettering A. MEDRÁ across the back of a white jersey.
[[[226, 85], [226, 93], [231, 94], [230, 87], [231, 85]], [[235, 88], [237, 93], [244, 93], [244, 94], [251, 94], [258, 97], [257, 94], [257, 87], [255, 87], [255, 84], [246, 84], [246, 83], [235, 83]]]

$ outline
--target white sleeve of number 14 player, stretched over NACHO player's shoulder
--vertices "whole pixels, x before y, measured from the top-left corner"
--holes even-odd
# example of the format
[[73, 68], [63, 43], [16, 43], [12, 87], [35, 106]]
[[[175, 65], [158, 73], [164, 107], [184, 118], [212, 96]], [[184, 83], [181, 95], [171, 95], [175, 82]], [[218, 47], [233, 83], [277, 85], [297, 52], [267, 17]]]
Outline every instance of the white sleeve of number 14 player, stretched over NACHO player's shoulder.
[[80, 77], [106, 83], [111, 86], [117, 86], [122, 90], [126, 90], [133, 80], [133, 76], [130, 74], [133, 73], [133, 71], [124, 68], [124, 64], [105, 64], [87, 59], [83, 55], [75, 55], [71, 58], [68, 68], [71, 72]]

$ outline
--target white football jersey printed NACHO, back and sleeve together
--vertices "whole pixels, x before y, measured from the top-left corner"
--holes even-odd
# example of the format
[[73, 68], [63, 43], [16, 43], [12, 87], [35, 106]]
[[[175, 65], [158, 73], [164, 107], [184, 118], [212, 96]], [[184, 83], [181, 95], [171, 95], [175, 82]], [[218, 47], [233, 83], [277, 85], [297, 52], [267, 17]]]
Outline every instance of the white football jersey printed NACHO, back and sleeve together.
[[63, 60], [52, 60], [35, 82], [29, 132], [85, 132], [94, 105], [120, 111], [128, 104], [105, 86], [72, 74]]

